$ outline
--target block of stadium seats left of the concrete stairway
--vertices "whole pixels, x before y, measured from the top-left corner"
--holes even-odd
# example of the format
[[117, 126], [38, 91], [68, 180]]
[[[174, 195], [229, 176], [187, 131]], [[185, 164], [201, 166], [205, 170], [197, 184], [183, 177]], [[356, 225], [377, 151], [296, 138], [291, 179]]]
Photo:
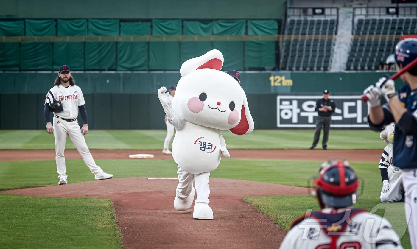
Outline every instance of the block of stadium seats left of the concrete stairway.
[[282, 70], [329, 70], [336, 19], [289, 19], [286, 25]]

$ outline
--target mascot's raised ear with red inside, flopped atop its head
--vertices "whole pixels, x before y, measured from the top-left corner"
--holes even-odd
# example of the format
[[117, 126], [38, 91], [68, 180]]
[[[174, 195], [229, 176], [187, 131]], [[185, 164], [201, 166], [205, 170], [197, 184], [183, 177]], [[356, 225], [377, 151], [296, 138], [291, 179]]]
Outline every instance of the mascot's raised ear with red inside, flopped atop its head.
[[201, 68], [212, 68], [216, 70], [221, 70], [221, 67], [223, 66], [223, 61], [223, 54], [219, 50], [213, 49], [199, 57], [192, 58], [184, 62], [181, 65], [180, 73], [181, 76], [185, 76], [188, 73], [191, 73]]

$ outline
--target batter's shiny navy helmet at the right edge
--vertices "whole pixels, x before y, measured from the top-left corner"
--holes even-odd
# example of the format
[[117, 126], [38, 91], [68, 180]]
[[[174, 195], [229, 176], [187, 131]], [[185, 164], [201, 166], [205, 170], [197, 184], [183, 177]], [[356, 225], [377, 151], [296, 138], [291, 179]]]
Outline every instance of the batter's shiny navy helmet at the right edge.
[[[401, 40], [395, 46], [395, 61], [402, 66], [406, 66], [417, 58], [417, 39], [407, 38]], [[417, 71], [417, 66], [411, 68], [413, 71]]]

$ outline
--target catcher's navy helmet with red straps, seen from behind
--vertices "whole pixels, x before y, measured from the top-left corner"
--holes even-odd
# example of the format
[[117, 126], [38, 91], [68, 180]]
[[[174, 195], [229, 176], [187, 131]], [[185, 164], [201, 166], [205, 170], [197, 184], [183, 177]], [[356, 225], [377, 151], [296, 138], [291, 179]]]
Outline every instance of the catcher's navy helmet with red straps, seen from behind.
[[317, 199], [322, 208], [326, 204], [341, 209], [356, 202], [359, 181], [347, 161], [323, 163], [319, 177], [313, 184], [316, 185]]

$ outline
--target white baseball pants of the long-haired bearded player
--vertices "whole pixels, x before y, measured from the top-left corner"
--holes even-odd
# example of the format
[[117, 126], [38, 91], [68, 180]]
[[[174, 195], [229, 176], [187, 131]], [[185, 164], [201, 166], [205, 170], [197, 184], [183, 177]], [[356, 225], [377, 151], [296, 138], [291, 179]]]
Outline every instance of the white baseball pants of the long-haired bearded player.
[[87, 144], [85, 143], [85, 139], [83, 134], [81, 134], [80, 126], [78, 126], [77, 121], [67, 122], [65, 120], [59, 118], [53, 118], [53, 134], [55, 137], [55, 161], [56, 161], [56, 171], [58, 172], [58, 178], [65, 178], [67, 179], [67, 175], [65, 174], [65, 140], [67, 139], [67, 135], [70, 137], [71, 141], [73, 141], [75, 147], [78, 150], [78, 153], [83, 157], [85, 164], [90, 169], [91, 173], [98, 175], [103, 170], [95, 164], [93, 157], [90, 154], [90, 150], [88, 150]]

